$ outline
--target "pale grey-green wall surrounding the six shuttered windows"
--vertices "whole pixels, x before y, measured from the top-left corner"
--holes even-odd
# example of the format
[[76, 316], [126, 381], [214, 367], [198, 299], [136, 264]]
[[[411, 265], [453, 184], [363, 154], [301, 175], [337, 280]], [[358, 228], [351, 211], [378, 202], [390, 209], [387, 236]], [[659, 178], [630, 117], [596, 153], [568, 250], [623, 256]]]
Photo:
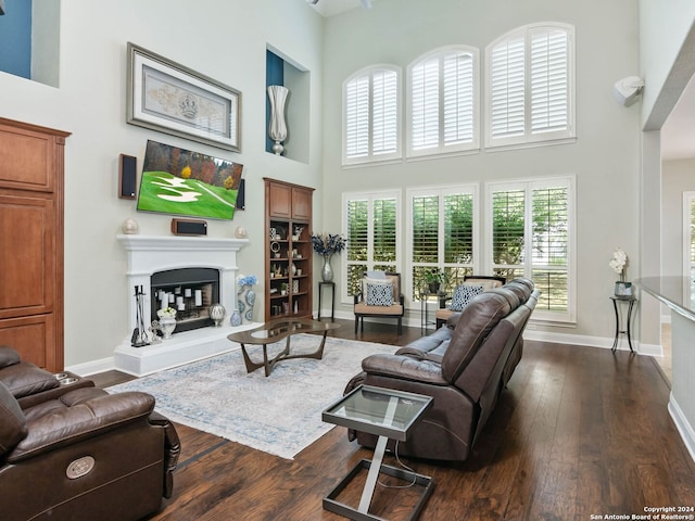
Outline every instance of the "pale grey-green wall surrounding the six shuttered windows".
[[[446, 45], [476, 46], [482, 52], [503, 33], [541, 21], [576, 26], [576, 143], [341, 167], [341, 87], [349, 75], [374, 63], [397, 64], [405, 72], [415, 58]], [[637, 7], [631, 0], [379, 0], [371, 10], [330, 18], [324, 66], [324, 229], [340, 230], [340, 213], [328, 209], [340, 207], [343, 191], [395, 188], [402, 190], [405, 202], [406, 187], [576, 175], [577, 328], [545, 329], [612, 338], [608, 300], [615, 281], [608, 268], [612, 251], [622, 246], [628, 252], [630, 277], [639, 270], [640, 106], [620, 106], [611, 89], [616, 79], [639, 69], [637, 48]], [[401, 253], [404, 258], [405, 250]], [[352, 306], [342, 303], [341, 309], [349, 313]], [[417, 313], [419, 308], [412, 316]]]

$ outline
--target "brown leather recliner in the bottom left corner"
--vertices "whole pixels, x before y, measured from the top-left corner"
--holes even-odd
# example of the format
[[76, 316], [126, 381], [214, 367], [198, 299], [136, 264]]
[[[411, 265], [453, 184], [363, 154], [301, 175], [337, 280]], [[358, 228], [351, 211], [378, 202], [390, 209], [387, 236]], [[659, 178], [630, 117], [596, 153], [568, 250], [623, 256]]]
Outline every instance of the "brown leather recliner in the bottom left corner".
[[0, 518], [123, 521], [156, 511], [172, 495], [174, 425], [149, 394], [60, 377], [0, 346]]

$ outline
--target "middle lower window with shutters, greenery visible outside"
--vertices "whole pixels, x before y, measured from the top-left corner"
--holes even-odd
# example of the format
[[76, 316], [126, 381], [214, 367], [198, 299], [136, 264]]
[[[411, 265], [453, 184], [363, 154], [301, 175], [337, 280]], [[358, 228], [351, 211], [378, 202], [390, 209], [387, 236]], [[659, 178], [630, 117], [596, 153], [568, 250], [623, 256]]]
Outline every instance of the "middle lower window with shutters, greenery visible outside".
[[410, 226], [408, 295], [415, 298], [427, 271], [442, 270], [448, 290], [475, 266], [476, 186], [408, 191]]

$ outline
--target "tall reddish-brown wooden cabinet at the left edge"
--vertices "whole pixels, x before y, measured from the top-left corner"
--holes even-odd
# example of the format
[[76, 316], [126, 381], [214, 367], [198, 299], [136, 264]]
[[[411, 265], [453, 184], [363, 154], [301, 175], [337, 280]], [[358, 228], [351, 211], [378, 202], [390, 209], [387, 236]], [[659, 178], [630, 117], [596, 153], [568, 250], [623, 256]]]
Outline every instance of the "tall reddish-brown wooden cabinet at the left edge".
[[68, 132], [0, 118], [0, 344], [63, 369], [63, 158]]

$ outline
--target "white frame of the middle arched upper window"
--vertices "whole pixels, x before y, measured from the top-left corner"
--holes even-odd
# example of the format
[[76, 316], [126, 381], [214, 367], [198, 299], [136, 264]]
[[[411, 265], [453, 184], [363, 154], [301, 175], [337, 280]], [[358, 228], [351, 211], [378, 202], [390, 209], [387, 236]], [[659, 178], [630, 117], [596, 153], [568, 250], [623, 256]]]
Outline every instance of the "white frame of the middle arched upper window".
[[[472, 60], [472, 100], [471, 100], [471, 110], [472, 110], [472, 140], [470, 143], [459, 143], [459, 144], [445, 144], [443, 142], [444, 139], [444, 112], [443, 112], [443, 98], [444, 98], [444, 82], [441, 81], [443, 75], [442, 60], [446, 54], [452, 52], [463, 52], [469, 53]], [[433, 58], [439, 59], [439, 139], [438, 145], [424, 149], [424, 150], [414, 150], [413, 147], [413, 71], [416, 66], [425, 62], [426, 60], [431, 60]], [[430, 157], [434, 155], [459, 155], [462, 153], [472, 153], [480, 151], [480, 50], [476, 47], [465, 46], [465, 45], [456, 45], [456, 46], [446, 46], [441, 47], [431, 51], [428, 51], [425, 54], [421, 54], [417, 59], [415, 59], [407, 66], [406, 72], [406, 157], [407, 158], [420, 158], [420, 157]]]

